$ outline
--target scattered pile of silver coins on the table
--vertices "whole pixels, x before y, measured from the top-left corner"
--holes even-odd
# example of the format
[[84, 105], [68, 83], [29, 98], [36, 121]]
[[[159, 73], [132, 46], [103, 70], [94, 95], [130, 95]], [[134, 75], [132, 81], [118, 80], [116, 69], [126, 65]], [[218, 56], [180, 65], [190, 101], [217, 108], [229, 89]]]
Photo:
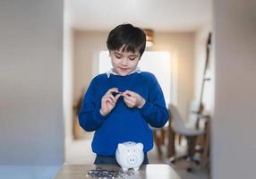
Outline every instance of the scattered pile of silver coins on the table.
[[130, 178], [132, 175], [134, 175], [133, 172], [123, 172], [117, 169], [107, 170], [101, 167], [96, 167], [96, 169], [89, 170], [87, 173], [87, 176], [98, 179]]

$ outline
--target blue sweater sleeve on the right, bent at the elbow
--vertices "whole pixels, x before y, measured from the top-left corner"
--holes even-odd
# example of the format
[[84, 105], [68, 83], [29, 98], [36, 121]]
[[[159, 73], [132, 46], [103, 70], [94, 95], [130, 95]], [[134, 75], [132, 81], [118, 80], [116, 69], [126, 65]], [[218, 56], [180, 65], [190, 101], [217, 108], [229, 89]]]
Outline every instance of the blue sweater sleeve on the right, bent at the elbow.
[[153, 74], [151, 74], [149, 98], [146, 99], [145, 105], [141, 107], [141, 115], [152, 127], [158, 128], [163, 127], [169, 118], [163, 91]]

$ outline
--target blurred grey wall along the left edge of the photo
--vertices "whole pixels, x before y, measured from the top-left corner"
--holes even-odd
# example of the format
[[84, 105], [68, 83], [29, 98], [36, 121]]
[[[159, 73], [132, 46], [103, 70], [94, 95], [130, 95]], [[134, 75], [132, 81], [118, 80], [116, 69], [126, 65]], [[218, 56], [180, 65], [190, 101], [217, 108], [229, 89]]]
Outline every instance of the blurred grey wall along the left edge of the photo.
[[64, 162], [63, 1], [1, 1], [0, 18], [0, 178], [52, 178]]

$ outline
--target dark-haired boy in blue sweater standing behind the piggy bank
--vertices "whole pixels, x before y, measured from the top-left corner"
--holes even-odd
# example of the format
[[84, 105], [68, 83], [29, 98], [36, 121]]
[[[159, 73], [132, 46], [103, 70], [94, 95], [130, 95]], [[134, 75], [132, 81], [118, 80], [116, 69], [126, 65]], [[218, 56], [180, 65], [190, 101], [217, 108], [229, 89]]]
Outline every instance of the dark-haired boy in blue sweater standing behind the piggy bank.
[[108, 34], [113, 68], [90, 82], [79, 114], [81, 127], [95, 131], [91, 144], [97, 154], [94, 164], [117, 164], [115, 150], [125, 141], [141, 142], [143, 164], [148, 164], [147, 152], [153, 148], [149, 125], [162, 127], [168, 120], [156, 77], [137, 67], [145, 45], [143, 30], [132, 24], [119, 25]]

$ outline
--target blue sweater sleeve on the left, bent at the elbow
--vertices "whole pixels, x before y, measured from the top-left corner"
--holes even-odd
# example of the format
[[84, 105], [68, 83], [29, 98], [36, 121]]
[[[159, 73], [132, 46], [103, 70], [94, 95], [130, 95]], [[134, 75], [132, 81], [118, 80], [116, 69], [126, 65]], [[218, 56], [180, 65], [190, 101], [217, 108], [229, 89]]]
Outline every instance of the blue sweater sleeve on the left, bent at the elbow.
[[95, 94], [95, 91], [97, 91], [95, 89], [97, 86], [96, 83], [96, 79], [93, 79], [90, 82], [90, 86], [85, 93], [79, 113], [79, 123], [87, 132], [97, 130], [106, 118], [106, 116], [99, 113], [100, 101], [97, 100], [100, 99], [97, 99], [97, 95]]

